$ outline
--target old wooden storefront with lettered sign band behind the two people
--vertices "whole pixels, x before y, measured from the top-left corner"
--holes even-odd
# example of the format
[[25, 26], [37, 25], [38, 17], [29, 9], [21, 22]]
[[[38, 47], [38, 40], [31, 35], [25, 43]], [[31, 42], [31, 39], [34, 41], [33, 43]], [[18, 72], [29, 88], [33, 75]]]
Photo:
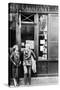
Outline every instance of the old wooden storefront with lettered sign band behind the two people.
[[58, 75], [58, 6], [9, 4], [9, 48], [25, 43], [37, 57], [37, 76]]

